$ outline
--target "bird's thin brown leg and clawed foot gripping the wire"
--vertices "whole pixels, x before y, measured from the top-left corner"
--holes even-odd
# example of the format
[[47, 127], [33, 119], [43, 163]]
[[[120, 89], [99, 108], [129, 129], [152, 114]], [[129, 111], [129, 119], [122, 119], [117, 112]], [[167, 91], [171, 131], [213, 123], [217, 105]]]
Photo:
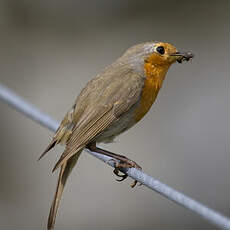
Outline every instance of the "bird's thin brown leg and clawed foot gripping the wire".
[[[95, 142], [88, 144], [86, 148], [88, 148], [91, 151], [94, 151], [94, 152], [97, 152], [97, 153], [100, 153], [100, 154], [103, 154], [109, 157], [113, 157], [114, 159], [118, 160], [118, 161], [115, 161], [112, 159], [115, 163], [115, 169], [113, 170], [113, 173], [117, 175], [118, 177], [121, 177], [121, 179], [118, 181], [123, 181], [128, 177], [126, 173], [124, 173], [124, 175], [119, 174], [119, 169], [121, 168], [136, 168], [136, 169], [142, 170], [142, 168], [135, 161], [132, 161], [123, 155], [115, 154], [107, 150], [98, 148]], [[137, 184], [137, 181], [135, 180], [131, 184], [131, 187], [133, 188], [136, 184]]]

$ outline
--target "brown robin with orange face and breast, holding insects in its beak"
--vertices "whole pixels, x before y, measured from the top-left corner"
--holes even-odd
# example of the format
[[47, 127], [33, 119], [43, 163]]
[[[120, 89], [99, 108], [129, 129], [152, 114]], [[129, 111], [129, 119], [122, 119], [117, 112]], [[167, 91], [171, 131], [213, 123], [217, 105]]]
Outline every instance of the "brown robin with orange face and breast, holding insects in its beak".
[[[84, 148], [115, 161], [114, 173], [124, 180], [119, 169], [141, 167], [129, 158], [97, 147], [140, 121], [149, 111], [162, 87], [169, 67], [193, 58], [167, 42], [144, 42], [127, 49], [115, 62], [90, 80], [76, 98], [41, 159], [57, 144], [64, 152], [53, 171], [60, 168], [56, 192], [50, 208], [47, 229], [53, 230], [58, 206], [67, 178]], [[132, 184], [134, 187], [136, 181]]]

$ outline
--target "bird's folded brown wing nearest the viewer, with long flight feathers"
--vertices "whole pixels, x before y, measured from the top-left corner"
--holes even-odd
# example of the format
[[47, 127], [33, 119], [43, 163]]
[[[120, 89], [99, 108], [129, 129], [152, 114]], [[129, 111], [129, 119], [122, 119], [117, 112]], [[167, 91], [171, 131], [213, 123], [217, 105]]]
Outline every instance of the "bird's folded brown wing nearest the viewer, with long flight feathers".
[[[117, 74], [122, 74], [118, 76]], [[65, 151], [54, 167], [56, 170], [76, 152], [83, 149], [98, 134], [103, 132], [114, 121], [127, 112], [138, 102], [144, 84], [142, 76], [132, 70], [125, 69], [122, 73], [115, 72], [111, 81], [106, 79], [107, 86], [103, 91], [89, 93], [85, 100], [88, 102], [78, 122], [73, 127], [72, 133], [66, 143]], [[99, 78], [100, 80], [100, 78]], [[91, 88], [91, 89], [92, 89]], [[89, 100], [91, 98], [91, 100]], [[78, 98], [81, 101], [81, 98]], [[78, 105], [76, 105], [76, 108]]]

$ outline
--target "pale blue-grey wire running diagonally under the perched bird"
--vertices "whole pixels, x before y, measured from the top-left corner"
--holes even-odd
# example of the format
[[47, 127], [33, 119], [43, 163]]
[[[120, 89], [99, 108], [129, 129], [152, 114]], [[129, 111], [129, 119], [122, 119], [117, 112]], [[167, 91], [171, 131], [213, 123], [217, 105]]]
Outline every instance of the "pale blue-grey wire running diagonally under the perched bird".
[[[26, 115], [30, 119], [36, 121], [37, 123], [43, 125], [49, 130], [55, 132], [59, 126], [59, 122], [52, 119], [50, 116], [41, 112], [32, 104], [28, 103], [20, 96], [12, 92], [7, 87], [0, 84], [0, 99]], [[110, 157], [91, 152], [86, 150], [91, 155], [97, 157], [98, 159], [106, 162], [110, 166], [114, 167], [113, 161], [110, 161]], [[142, 171], [139, 171], [135, 168], [124, 170], [123, 172], [127, 173], [128, 176], [137, 180], [141, 184], [147, 186], [148, 188], [160, 193], [169, 200], [174, 201], [175, 203], [197, 213], [199, 216], [203, 217], [210, 223], [216, 225], [220, 229], [230, 230], [230, 219], [223, 216], [222, 214], [208, 208], [207, 206], [191, 199], [190, 197], [176, 191], [175, 189], [169, 187], [168, 185], [154, 179], [153, 177], [145, 174]]]

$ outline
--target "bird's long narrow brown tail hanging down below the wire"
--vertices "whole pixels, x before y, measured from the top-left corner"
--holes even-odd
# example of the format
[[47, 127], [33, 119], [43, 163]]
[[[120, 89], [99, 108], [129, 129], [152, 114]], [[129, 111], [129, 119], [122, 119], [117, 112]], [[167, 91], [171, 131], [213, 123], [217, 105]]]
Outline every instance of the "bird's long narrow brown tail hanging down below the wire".
[[47, 224], [47, 229], [48, 230], [53, 230], [54, 229], [54, 224], [55, 224], [55, 219], [57, 215], [57, 210], [58, 206], [61, 200], [61, 196], [63, 193], [63, 189], [66, 183], [66, 180], [71, 173], [74, 165], [77, 163], [78, 157], [81, 154], [82, 150], [77, 152], [75, 155], [73, 155], [67, 162], [63, 163], [61, 166], [60, 172], [59, 172], [59, 178], [58, 178], [58, 183], [56, 187], [56, 192], [54, 195], [54, 199], [50, 208], [50, 213], [49, 213], [49, 218], [48, 218], [48, 224]]

